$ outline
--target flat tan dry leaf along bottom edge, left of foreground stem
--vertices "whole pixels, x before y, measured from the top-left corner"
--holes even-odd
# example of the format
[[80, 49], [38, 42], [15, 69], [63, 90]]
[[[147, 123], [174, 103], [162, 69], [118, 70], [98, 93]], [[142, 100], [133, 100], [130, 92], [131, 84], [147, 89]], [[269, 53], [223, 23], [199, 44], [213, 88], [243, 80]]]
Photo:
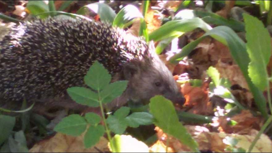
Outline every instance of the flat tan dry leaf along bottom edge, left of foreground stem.
[[[84, 134], [84, 133], [83, 133]], [[86, 149], [83, 144], [83, 134], [78, 137], [57, 133], [50, 139], [45, 139], [36, 143], [29, 152], [100, 152], [109, 151], [108, 140], [104, 137], [95, 145]]]

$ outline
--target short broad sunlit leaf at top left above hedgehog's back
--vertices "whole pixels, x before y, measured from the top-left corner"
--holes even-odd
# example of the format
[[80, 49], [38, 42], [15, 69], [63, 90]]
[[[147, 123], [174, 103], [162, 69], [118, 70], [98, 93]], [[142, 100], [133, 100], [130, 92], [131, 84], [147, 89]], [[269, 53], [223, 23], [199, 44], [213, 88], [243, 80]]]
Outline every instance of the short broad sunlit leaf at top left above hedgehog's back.
[[[41, 1], [41, 0], [29, 1], [26, 8], [30, 11], [30, 14], [33, 14], [33, 15], [37, 15], [37, 14], [49, 11], [49, 6], [44, 1]], [[48, 16], [49, 14], [39, 15], [41, 19], [44, 19]]]

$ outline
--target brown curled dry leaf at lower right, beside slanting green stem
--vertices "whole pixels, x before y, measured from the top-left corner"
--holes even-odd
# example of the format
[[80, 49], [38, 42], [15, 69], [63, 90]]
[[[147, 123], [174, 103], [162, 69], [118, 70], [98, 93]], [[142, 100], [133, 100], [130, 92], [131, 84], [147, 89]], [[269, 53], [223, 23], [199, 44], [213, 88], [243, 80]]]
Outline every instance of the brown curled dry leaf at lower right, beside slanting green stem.
[[[230, 120], [236, 121], [236, 125], [229, 125]], [[261, 117], [254, 117], [249, 110], [242, 110], [240, 114], [233, 116], [230, 119], [222, 116], [219, 117], [219, 131], [225, 133], [236, 133], [236, 134], [250, 134], [252, 129], [260, 130], [263, 125], [263, 119]]]

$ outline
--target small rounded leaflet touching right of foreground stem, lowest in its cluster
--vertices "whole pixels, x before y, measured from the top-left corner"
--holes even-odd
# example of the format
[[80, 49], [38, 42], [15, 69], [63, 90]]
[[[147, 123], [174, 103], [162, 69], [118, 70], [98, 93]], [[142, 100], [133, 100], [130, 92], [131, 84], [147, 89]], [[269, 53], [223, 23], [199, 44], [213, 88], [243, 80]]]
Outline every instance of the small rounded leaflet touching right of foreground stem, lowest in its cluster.
[[115, 134], [123, 134], [127, 128], [125, 118], [117, 118], [114, 115], [109, 115], [106, 121], [109, 129]]

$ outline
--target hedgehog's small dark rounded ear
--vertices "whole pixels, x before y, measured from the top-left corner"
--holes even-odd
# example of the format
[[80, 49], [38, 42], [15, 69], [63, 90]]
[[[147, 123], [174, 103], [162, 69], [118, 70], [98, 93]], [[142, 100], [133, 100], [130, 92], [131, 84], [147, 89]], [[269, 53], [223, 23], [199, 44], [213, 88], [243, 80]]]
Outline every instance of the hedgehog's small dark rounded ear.
[[140, 61], [132, 61], [124, 66], [123, 74], [126, 80], [140, 74], [140, 64]]

